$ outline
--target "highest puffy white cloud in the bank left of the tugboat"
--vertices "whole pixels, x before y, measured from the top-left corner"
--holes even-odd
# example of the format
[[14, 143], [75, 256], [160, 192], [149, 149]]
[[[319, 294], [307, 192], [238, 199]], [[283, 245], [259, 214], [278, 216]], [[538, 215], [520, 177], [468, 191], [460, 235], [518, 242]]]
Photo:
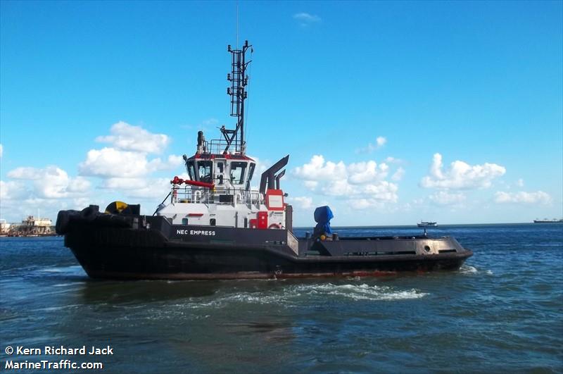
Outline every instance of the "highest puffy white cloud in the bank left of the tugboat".
[[137, 151], [147, 154], [160, 153], [170, 143], [170, 137], [153, 134], [140, 126], [120, 121], [110, 129], [111, 135], [96, 137], [96, 142], [110, 143], [123, 151]]

